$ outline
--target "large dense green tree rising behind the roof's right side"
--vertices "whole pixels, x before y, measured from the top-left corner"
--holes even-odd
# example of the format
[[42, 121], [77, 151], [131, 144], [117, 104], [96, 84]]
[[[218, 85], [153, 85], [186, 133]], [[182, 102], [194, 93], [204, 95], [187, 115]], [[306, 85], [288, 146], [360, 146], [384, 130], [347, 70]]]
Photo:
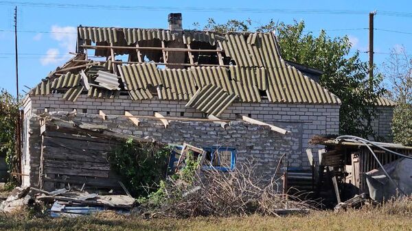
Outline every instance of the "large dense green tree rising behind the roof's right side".
[[[216, 32], [233, 32], [242, 25], [241, 31], [251, 29], [248, 21], [230, 20], [217, 24], [209, 19], [205, 29]], [[275, 23], [255, 27], [257, 32], [275, 31], [281, 49], [282, 58], [312, 66], [323, 71], [319, 83], [341, 99], [340, 133], [357, 136], [373, 136], [369, 125], [376, 116], [376, 100], [385, 93], [380, 87], [382, 76], [377, 75], [369, 88], [367, 62], [361, 61], [359, 53], [350, 56], [351, 43], [347, 36], [331, 38], [322, 30], [318, 36], [305, 32], [304, 21], [293, 24]]]

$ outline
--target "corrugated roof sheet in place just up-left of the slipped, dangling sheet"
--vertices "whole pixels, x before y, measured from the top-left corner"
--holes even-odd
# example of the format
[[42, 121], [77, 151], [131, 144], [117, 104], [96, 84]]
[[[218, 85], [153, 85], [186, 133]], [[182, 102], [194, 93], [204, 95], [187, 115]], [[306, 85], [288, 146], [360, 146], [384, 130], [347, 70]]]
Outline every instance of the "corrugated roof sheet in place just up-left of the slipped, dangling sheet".
[[192, 71], [186, 69], [161, 69], [162, 99], [188, 100], [196, 92]]

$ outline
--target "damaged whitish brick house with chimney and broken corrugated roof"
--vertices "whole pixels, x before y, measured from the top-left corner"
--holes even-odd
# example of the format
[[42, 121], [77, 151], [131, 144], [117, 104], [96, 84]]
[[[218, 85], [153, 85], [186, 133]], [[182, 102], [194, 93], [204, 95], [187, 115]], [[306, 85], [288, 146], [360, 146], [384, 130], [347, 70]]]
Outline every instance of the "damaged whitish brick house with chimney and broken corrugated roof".
[[[339, 132], [341, 101], [319, 85], [321, 73], [283, 60], [273, 33], [185, 30], [181, 20], [170, 14], [169, 29], [78, 27], [76, 55], [24, 99], [23, 185], [115, 182], [105, 136], [60, 134], [47, 113], [93, 137], [203, 147], [215, 167], [254, 160], [273, 175], [285, 156], [289, 167], [309, 169], [310, 138]], [[386, 136], [393, 104], [380, 104], [389, 108], [376, 122]]]

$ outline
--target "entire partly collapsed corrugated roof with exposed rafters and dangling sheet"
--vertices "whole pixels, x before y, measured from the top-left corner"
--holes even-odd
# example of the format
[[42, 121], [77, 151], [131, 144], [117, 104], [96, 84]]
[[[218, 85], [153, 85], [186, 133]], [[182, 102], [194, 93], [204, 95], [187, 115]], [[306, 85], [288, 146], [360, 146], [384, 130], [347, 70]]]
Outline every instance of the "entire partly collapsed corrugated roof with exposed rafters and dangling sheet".
[[280, 57], [272, 33], [168, 29], [78, 27], [76, 56], [30, 91], [50, 93], [182, 100], [215, 116], [234, 101], [341, 104]]

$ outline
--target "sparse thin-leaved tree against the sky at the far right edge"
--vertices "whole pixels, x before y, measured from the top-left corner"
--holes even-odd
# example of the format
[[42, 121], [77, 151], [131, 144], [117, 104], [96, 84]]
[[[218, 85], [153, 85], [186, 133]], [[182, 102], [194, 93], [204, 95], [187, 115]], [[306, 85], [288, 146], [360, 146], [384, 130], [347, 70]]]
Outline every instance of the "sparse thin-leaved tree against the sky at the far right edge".
[[391, 86], [389, 97], [398, 104], [393, 111], [393, 141], [412, 145], [412, 58], [404, 47], [392, 49], [383, 67]]

